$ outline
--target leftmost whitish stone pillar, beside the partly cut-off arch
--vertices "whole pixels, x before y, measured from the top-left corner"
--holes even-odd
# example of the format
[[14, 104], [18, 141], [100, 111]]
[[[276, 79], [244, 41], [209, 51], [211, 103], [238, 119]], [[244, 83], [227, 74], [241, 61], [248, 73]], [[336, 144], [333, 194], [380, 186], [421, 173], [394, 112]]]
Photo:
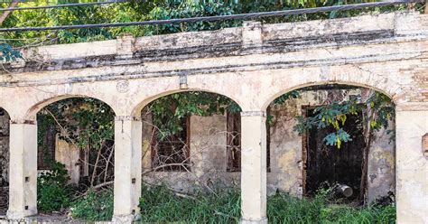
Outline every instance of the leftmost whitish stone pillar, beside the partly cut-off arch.
[[11, 121], [7, 219], [37, 214], [37, 125]]

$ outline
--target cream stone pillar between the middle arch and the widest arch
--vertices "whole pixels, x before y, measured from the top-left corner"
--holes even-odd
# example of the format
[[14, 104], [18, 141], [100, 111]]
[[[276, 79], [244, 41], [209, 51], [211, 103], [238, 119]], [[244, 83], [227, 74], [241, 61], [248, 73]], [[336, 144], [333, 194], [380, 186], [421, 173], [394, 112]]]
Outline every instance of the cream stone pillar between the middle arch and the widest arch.
[[241, 113], [241, 223], [267, 223], [264, 111]]

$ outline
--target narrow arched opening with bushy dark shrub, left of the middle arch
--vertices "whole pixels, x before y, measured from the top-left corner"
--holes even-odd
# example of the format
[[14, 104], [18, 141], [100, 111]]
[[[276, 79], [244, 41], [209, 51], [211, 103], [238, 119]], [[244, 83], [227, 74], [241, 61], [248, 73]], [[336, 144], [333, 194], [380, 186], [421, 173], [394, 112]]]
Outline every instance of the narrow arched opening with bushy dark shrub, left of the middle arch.
[[[71, 210], [73, 218], [94, 212], [82, 207], [88, 199], [82, 196], [90, 193], [88, 189], [112, 188], [114, 120], [113, 109], [96, 98], [61, 98], [37, 112], [39, 212]], [[105, 210], [112, 213], [113, 208]]]

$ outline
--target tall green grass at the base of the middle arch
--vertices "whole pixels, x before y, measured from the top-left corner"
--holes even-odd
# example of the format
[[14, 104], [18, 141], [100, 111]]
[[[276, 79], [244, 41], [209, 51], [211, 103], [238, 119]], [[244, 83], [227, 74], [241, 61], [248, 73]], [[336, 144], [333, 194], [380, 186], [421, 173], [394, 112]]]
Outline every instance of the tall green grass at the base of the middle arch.
[[162, 185], [143, 188], [140, 208], [143, 222], [237, 223], [240, 198], [234, 189], [188, 196]]

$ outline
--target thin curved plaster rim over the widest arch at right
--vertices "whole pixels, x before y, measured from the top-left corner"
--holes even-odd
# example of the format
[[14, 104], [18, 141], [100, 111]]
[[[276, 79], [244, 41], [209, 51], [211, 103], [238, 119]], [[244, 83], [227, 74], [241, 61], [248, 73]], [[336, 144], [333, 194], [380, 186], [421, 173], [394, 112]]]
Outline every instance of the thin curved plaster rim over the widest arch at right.
[[[365, 89], [373, 89], [377, 92], [380, 92], [384, 95], [386, 95], [388, 98], [391, 99], [391, 101], [396, 105], [396, 96], [400, 93], [400, 89], [394, 89], [391, 88], [389, 90], [391, 91], [387, 91], [388, 89], [379, 89], [377, 87], [371, 86], [371, 85], [367, 85], [367, 84], [363, 84], [363, 83], [359, 83], [359, 82], [349, 82], [349, 81], [319, 81], [319, 82], [307, 82], [307, 83], [303, 83], [301, 85], [297, 85], [297, 86], [293, 86], [291, 88], [287, 88], [287, 89], [283, 89], [279, 92], [275, 92], [274, 94], [271, 94], [269, 96], [269, 98], [267, 98], [267, 100], [265, 100], [262, 109], [265, 111], [267, 109], [267, 107], [269, 107], [269, 105], [271, 104], [271, 102], [274, 101], [275, 98], [279, 98], [282, 95], [292, 92], [294, 90], [299, 90], [299, 89], [305, 89], [305, 88], [310, 88], [310, 87], [317, 87], [317, 86], [326, 86], [326, 85], [331, 85], [331, 86], [349, 86], [349, 87], [355, 87], [355, 88], [365, 88]], [[392, 90], [394, 89], [394, 90]]]

